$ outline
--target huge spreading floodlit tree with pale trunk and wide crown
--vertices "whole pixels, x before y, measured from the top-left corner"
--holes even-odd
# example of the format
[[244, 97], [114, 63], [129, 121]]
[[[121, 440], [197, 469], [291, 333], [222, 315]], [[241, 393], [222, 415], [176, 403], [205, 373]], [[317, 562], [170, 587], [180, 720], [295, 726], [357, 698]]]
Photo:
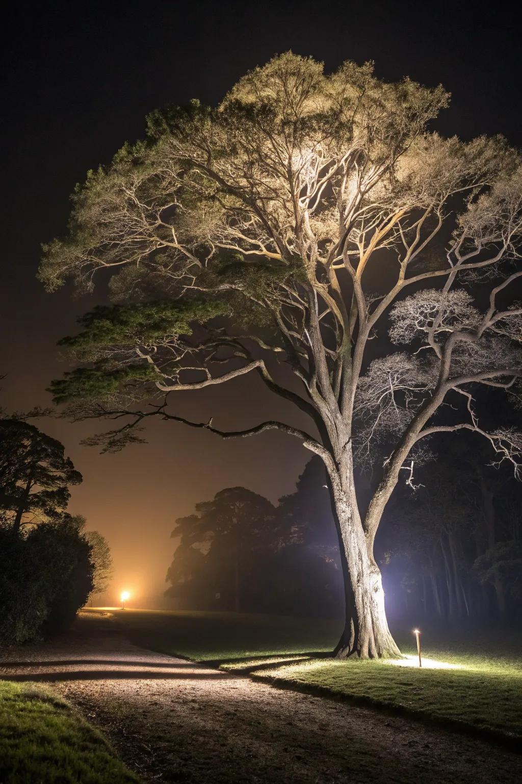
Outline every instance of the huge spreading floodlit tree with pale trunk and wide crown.
[[[276, 57], [217, 108], [152, 114], [145, 141], [77, 188], [70, 234], [41, 267], [51, 290], [109, 279], [115, 304], [65, 341], [86, 364], [53, 384], [77, 417], [130, 417], [97, 439], [105, 448], [138, 441], [149, 416], [186, 422], [171, 408], [179, 391], [250, 372], [308, 416], [309, 428], [188, 424], [225, 438], [277, 428], [324, 461], [346, 587], [340, 656], [398, 654], [373, 543], [429, 437], [473, 430], [513, 463], [522, 444], [484, 429], [473, 405], [481, 385], [520, 377], [520, 159], [500, 138], [430, 131], [447, 103], [441, 87], [382, 82], [370, 64], [325, 75]], [[359, 505], [364, 460], [380, 481]]]

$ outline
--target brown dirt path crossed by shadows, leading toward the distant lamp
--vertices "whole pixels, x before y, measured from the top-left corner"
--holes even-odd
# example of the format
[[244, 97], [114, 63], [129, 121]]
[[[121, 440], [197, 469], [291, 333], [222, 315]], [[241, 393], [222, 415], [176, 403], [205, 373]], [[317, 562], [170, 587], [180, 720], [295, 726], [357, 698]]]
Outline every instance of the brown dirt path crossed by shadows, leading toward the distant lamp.
[[2, 677], [52, 682], [146, 781], [522, 781], [515, 753], [149, 652], [103, 616], [81, 615], [52, 644], [4, 652]]

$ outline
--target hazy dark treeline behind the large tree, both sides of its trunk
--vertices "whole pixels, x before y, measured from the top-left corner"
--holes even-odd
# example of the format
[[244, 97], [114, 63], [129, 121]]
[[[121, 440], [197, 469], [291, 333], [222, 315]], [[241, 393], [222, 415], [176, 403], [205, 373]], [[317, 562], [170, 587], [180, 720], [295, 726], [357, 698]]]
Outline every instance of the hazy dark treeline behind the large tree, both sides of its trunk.
[[[166, 596], [183, 609], [339, 615], [337, 535], [312, 459], [277, 506], [227, 488], [176, 521]], [[364, 492], [364, 483], [361, 483]], [[324, 491], [324, 492], [322, 492]], [[398, 489], [376, 548], [395, 619], [480, 622], [520, 614], [522, 496], [477, 437], [448, 444]]]

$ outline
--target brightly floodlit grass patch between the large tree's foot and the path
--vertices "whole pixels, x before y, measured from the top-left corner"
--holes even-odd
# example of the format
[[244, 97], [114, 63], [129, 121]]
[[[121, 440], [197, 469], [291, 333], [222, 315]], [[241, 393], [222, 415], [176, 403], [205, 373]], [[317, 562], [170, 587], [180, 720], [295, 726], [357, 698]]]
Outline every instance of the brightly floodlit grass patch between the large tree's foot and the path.
[[[253, 677], [280, 686], [314, 691], [361, 704], [409, 713], [448, 728], [477, 731], [491, 738], [522, 740], [522, 636], [446, 630], [423, 641], [423, 668], [415, 644], [396, 634], [413, 666], [385, 661], [306, 659], [244, 666]], [[224, 663], [224, 669], [229, 665]]]

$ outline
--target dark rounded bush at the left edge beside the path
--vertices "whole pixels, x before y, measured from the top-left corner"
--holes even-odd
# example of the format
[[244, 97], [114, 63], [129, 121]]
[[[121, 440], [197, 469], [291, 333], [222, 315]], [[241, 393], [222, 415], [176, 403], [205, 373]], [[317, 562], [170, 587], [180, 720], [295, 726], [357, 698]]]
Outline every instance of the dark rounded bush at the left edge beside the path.
[[91, 547], [69, 516], [27, 535], [0, 529], [0, 641], [63, 630], [92, 590]]

